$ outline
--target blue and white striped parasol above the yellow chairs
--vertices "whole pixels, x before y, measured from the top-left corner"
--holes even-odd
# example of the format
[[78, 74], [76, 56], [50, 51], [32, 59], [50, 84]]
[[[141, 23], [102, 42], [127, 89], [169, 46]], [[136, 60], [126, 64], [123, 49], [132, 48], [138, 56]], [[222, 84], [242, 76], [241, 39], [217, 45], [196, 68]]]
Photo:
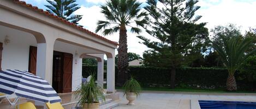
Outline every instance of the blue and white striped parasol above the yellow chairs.
[[61, 102], [46, 80], [21, 70], [0, 70], [0, 92], [41, 102]]

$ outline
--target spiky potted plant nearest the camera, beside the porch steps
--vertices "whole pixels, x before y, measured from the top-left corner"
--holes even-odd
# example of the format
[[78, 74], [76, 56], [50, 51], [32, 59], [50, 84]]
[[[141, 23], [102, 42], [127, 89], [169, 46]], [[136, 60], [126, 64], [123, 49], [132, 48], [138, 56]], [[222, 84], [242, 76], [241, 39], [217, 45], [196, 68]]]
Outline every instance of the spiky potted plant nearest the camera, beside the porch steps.
[[105, 101], [103, 88], [95, 84], [94, 76], [86, 84], [81, 84], [75, 92], [75, 99], [78, 100], [78, 106], [84, 109], [97, 109], [100, 102]]

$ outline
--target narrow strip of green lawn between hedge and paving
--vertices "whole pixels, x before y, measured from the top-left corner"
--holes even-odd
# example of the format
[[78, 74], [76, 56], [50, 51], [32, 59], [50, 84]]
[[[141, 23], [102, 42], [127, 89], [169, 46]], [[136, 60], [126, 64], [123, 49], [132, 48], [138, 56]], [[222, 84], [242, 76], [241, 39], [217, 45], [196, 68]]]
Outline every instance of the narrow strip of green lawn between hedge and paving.
[[[122, 89], [122, 87], [116, 87]], [[226, 91], [225, 89], [196, 89], [196, 88], [181, 88], [176, 87], [170, 89], [169, 87], [142, 87], [142, 91], [167, 91], [167, 92], [207, 92], [207, 93], [256, 93], [255, 91]]]

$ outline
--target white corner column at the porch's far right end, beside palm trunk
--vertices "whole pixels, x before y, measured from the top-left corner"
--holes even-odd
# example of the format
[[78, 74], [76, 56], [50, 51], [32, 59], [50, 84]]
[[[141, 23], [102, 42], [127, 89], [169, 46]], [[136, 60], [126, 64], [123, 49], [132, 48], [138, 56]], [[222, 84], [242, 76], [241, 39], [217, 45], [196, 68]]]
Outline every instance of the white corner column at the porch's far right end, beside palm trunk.
[[108, 92], [115, 92], [115, 56], [108, 58], [106, 73], [107, 90]]

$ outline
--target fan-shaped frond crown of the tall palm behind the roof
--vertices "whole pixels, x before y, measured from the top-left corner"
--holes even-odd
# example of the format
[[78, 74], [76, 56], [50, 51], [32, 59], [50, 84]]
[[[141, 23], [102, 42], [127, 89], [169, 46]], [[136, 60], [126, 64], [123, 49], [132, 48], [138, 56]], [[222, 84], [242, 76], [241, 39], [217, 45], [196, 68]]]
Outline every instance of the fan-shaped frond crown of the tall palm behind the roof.
[[[137, 0], [109, 0], [105, 5], [100, 5], [102, 9], [100, 12], [104, 14], [106, 22], [108, 23], [97, 23], [96, 32], [101, 29], [103, 30], [104, 35], [112, 34], [117, 32], [121, 25], [127, 26], [130, 23], [135, 22], [137, 26], [144, 27], [144, 24], [147, 23], [147, 13], [145, 11], [140, 12], [140, 5], [142, 3]], [[142, 20], [140, 20], [142, 19]], [[135, 21], [136, 20], [136, 21]], [[110, 25], [115, 24], [119, 27], [108, 28]], [[138, 27], [131, 28], [133, 33], [140, 33], [141, 29]]]

